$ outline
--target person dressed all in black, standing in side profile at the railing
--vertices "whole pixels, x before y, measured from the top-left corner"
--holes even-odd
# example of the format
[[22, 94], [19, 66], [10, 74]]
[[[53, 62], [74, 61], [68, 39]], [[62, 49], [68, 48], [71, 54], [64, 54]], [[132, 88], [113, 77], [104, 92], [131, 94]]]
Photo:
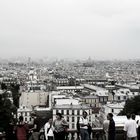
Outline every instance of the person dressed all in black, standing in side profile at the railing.
[[113, 114], [108, 113], [107, 119], [109, 120], [108, 140], [115, 140], [115, 122], [113, 120]]

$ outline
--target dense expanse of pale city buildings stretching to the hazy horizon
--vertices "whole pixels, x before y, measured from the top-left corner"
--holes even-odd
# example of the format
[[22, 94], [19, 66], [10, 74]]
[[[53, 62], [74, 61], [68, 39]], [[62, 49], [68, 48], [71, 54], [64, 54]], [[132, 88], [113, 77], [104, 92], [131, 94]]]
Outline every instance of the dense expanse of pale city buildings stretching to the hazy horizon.
[[7, 61], [0, 64], [0, 83], [0, 94], [6, 94], [11, 103], [11, 86], [19, 85], [19, 104], [13, 115], [22, 115], [29, 124], [32, 113], [47, 121], [60, 112], [69, 129], [75, 130], [87, 111], [92, 127], [102, 127], [108, 113], [122, 126], [125, 119], [118, 114], [127, 99], [140, 94], [140, 61]]

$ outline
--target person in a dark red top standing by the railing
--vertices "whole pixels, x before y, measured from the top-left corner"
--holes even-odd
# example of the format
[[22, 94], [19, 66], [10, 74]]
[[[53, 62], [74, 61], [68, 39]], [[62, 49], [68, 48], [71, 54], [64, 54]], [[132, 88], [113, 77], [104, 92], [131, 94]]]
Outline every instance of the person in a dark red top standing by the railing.
[[17, 140], [27, 140], [28, 130], [29, 130], [29, 127], [23, 121], [23, 116], [20, 116], [19, 122], [15, 128]]

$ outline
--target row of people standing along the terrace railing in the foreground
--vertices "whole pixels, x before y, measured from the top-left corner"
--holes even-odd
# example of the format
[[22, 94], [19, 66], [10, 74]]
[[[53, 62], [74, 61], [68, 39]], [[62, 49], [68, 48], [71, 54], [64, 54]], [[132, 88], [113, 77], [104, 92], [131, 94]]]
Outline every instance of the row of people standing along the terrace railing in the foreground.
[[[80, 140], [90, 140], [92, 127], [88, 120], [88, 113], [83, 111], [82, 117], [77, 122], [77, 134]], [[33, 125], [29, 127], [23, 120], [23, 116], [19, 117], [16, 125], [9, 124], [6, 140], [39, 140], [40, 122], [34, 114]], [[50, 118], [44, 125], [45, 140], [67, 140], [68, 138], [68, 123], [61, 113], [56, 114], [56, 119]], [[127, 114], [127, 121], [124, 124], [124, 140], [140, 140], [140, 122], [135, 120], [135, 114]], [[115, 140], [115, 122], [113, 114], [108, 113], [107, 119], [103, 123], [104, 140]]]

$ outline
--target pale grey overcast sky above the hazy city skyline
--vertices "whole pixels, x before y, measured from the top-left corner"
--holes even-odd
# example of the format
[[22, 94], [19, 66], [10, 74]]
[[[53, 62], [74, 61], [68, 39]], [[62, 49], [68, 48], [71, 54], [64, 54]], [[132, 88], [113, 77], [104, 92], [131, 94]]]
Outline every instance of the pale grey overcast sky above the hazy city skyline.
[[140, 58], [140, 0], [1, 0], [0, 57]]

